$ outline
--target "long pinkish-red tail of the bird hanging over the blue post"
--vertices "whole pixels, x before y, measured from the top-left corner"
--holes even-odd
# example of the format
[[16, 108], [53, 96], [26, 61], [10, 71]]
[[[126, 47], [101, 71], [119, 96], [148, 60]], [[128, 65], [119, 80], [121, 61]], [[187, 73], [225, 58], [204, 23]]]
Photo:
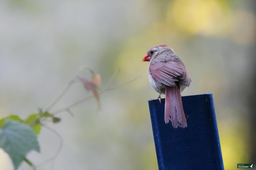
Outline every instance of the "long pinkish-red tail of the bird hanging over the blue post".
[[187, 120], [183, 111], [179, 82], [175, 82], [175, 86], [165, 86], [165, 109], [164, 121], [172, 122], [173, 128], [178, 126], [181, 128], [187, 127]]

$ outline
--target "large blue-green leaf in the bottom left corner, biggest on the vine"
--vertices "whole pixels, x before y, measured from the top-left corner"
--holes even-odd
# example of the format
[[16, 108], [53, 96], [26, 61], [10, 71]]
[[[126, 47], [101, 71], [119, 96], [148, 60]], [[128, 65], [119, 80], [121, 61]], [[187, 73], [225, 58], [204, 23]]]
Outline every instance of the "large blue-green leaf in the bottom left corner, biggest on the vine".
[[15, 120], [5, 120], [5, 125], [0, 129], [0, 147], [9, 154], [15, 169], [28, 152], [40, 152], [37, 135], [33, 129]]

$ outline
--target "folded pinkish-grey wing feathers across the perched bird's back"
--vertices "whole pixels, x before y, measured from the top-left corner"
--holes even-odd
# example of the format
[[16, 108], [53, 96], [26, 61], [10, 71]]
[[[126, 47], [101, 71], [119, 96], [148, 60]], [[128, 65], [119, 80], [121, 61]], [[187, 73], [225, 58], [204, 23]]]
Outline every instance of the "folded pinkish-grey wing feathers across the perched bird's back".
[[149, 65], [148, 71], [157, 83], [174, 86], [175, 81], [180, 81], [184, 86], [189, 86], [191, 79], [181, 61], [157, 62]]

